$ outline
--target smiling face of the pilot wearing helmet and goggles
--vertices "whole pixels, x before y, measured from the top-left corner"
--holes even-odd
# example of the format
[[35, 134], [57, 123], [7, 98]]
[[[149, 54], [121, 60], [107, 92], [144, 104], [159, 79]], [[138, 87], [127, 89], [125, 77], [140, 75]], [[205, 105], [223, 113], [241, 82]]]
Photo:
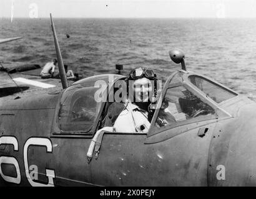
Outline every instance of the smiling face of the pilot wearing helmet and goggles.
[[135, 102], [148, 102], [152, 91], [152, 85], [147, 78], [134, 80], [134, 98]]

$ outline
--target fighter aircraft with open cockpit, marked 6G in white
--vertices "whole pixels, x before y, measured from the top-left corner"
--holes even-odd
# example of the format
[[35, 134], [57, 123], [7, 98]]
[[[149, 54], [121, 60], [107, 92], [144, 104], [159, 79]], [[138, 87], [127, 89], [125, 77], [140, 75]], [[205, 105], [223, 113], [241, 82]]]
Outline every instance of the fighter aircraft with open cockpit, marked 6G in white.
[[255, 102], [187, 71], [182, 51], [169, 55], [182, 69], [169, 74], [148, 132], [96, 135], [122, 102], [97, 102], [95, 83], [109, 82], [109, 98], [122, 75], [111, 75], [111, 81], [109, 74], [91, 76], [68, 86], [61, 73], [63, 90], [1, 101], [0, 185], [256, 185]]

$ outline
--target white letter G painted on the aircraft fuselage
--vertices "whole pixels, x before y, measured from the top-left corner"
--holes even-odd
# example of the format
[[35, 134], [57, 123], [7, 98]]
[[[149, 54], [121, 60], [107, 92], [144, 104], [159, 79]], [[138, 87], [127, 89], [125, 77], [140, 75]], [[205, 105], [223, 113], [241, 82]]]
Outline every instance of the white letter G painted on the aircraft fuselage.
[[31, 179], [31, 177], [29, 175], [29, 165], [28, 165], [28, 161], [27, 161], [27, 149], [29, 148], [30, 145], [46, 146], [47, 152], [52, 152], [52, 143], [51, 143], [51, 141], [47, 138], [31, 137], [26, 141], [26, 143], [24, 145], [23, 155], [24, 155], [24, 166], [25, 166], [26, 176], [27, 176], [27, 180], [29, 181], [29, 183], [33, 187], [42, 187], [42, 186], [54, 187], [54, 182], [53, 182], [53, 178], [55, 178], [54, 170], [46, 169], [46, 176], [48, 177], [48, 183], [47, 184], [34, 182]]

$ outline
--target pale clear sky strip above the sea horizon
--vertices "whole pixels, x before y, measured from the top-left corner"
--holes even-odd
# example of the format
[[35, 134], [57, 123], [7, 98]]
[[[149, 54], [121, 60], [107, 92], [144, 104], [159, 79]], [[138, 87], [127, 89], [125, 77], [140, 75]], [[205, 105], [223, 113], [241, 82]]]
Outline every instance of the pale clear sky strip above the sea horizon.
[[0, 0], [1, 18], [256, 18], [255, 11], [256, 0]]

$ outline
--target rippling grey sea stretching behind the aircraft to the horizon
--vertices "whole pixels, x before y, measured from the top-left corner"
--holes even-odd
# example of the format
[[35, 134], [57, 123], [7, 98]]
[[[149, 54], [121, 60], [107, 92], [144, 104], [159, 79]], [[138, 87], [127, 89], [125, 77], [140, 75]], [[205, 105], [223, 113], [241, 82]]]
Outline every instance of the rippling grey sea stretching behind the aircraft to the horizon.
[[[154, 69], [165, 81], [180, 65], [169, 50], [182, 49], [187, 70], [256, 96], [256, 19], [54, 19], [64, 63], [84, 77], [135, 67]], [[67, 35], [69, 37], [67, 37]], [[0, 62], [43, 66], [56, 58], [50, 19], [0, 19]]]

